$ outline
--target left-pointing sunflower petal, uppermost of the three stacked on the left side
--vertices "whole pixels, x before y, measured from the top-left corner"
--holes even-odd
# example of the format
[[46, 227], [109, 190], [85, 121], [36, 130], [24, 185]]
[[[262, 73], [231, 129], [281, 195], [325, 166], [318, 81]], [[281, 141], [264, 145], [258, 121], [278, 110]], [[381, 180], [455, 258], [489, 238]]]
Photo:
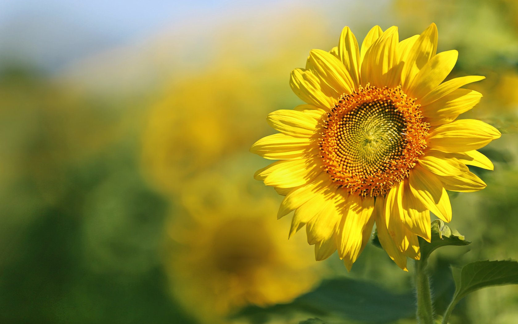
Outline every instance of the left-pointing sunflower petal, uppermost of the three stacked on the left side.
[[315, 134], [318, 122], [304, 112], [281, 109], [270, 112], [266, 118], [275, 130], [295, 137], [309, 137]]

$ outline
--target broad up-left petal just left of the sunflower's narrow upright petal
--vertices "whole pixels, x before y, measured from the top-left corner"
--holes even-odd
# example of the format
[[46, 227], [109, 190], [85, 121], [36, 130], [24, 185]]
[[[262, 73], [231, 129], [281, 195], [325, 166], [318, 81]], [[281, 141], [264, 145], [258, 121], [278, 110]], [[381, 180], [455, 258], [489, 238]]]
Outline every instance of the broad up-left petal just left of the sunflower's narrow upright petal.
[[340, 60], [326, 51], [311, 50], [306, 68], [313, 72], [321, 82], [336, 91], [338, 95], [351, 93], [354, 89], [349, 71]]

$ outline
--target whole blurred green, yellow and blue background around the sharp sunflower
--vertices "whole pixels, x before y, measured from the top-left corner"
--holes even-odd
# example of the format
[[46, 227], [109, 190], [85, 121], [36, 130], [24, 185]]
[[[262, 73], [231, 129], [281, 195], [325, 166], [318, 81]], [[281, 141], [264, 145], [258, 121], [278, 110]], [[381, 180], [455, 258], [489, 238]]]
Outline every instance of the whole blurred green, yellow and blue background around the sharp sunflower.
[[[451, 195], [473, 243], [431, 260], [441, 313], [449, 264], [518, 259], [517, 17], [515, 0], [0, 0], [0, 322], [414, 322], [411, 274], [381, 249], [347, 273], [287, 240], [248, 149], [344, 25], [361, 42], [431, 22], [459, 51], [450, 77], [486, 76], [465, 117], [504, 133], [482, 150], [495, 171], [473, 167], [488, 187]], [[518, 287], [469, 295], [451, 321], [517, 323]]]

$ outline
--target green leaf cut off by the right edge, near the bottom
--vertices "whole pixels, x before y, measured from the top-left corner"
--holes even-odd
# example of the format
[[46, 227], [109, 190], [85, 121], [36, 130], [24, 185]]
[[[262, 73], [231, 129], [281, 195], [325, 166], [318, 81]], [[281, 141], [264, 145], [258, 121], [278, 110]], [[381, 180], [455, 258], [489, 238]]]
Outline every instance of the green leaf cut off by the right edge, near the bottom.
[[462, 272], [454, 271], [455, 300], [458, 302], [468, 293], [484, 287], [518, 285], [518, 262], [477, 261], [466, 264]]

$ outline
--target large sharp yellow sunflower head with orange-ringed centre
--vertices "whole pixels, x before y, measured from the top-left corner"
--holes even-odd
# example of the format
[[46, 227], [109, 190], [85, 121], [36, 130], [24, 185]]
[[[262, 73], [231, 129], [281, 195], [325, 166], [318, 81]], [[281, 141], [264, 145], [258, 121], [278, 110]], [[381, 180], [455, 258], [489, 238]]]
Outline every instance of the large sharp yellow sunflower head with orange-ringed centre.
[[458, 53], [436, 49], [435, 24], [402, 41], [396, 26], [375, 26], [361, 48], [344, 27], [337, 47], [311, 50], [306, 68], [292, 71], [307, 104], [268, 115], [280, 133], [251, 151], [279, 161], [254, 177], [285, 195], [278, 217], [295, 210], [290, 236], [306, 226], [317, 260], [338, 249], [350, 270], [376, 222], [381, 245], [406, 270], [406, 257], [420, 258], [418, 236], [430, 241], [429, 213], [451, 220], [447, 190], [486, 186], [466, 165], [493, 170], [477, 149], [501, 134], [456, 120], [482, 97], [461, 87], [484, 77], [443, 82]]

